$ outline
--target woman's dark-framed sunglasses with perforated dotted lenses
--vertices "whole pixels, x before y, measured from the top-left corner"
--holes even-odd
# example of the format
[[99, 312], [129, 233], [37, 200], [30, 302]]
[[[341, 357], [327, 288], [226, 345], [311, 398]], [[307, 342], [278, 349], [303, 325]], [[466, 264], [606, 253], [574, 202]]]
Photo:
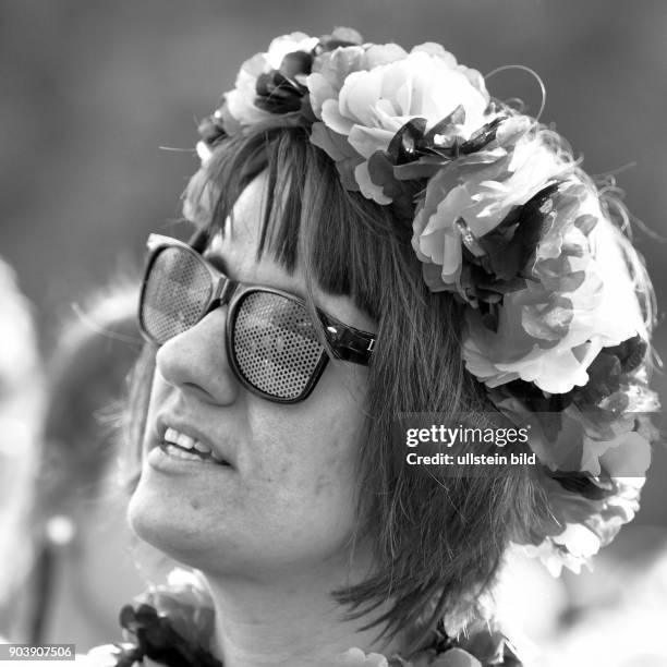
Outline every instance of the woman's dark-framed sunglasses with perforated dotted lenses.
[[293, 294], [237, 282], [194, 247], [170, 237], [150, 234], [140, 298], [144, 337], [158, 345], [186, 331], [213, 310], [227, 305], [225, 344], [239, 381], [277, 403], [305, 400], [329, 361], [368, 365], [373, 333], [350, 327]]

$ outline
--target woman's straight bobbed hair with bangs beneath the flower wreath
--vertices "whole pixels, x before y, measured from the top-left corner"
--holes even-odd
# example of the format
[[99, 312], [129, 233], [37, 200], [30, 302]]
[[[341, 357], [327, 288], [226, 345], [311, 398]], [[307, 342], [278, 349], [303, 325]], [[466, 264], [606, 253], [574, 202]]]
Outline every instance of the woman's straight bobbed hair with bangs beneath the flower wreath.
[[[270, 253], [288, 271], [299, 259], [314, 284], [348, 295], [377, 323], [355, 534], [372, 537], [376, 568], [333, 595], [354, 617], [390, 599], [389, 613], [373, 624], [388, 634], [422, 628], [423, 636], [442, 617], [474, 609], [508, 542], [542, 507], [538, 486], [521, 466], [484, 477], [407, 470], [392, 439], [397, 414], [495, 411], [462, 361], [462, 305], [427, 289], [411, 225], [344, 190], [336, 166], [304, 129], [256, 129], [223, 140], [186, 197], [196, 206], [213, 184], [209, 225], [223, 229], [240, 193], [263, 171], [268, 193], [258, 256]], [[145, 363], [150, 373], [150, 360]], [[144, 413], [140, 407], [140, 428]]]

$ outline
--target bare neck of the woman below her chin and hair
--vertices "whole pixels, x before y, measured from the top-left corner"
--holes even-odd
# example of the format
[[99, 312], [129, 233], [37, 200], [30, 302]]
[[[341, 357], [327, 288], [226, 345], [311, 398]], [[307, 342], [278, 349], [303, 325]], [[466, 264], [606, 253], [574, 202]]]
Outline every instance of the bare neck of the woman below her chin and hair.
[[322, 570], [276, 575], [271, 581], [207, 575], [216, 608], [214, 652], [225, 667], [332, 665], [355, 646], [396, 653], [399, 642], [378, 642], [378, 627], [360, 630], [377, 616], [348, 620], [330, 595], [344, 577]]

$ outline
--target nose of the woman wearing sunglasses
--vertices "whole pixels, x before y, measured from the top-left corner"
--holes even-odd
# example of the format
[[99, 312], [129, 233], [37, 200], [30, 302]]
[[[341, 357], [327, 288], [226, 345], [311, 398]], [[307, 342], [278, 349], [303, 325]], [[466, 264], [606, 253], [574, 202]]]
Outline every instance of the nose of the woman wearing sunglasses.
[[227, 359], [226, 320], [227, 306], [217, 307], [162, 344], [156, 367], [165, 381], [210, 403], [232, 403], [241, 386]]

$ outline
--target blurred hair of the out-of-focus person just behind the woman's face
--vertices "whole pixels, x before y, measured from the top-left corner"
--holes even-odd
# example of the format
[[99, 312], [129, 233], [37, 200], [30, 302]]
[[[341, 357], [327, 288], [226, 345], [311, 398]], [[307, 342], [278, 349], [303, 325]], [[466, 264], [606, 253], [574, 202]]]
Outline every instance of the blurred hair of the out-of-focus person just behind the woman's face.
[[62, 325], [47, 368], [37, 488], [38, 507], [48, 516], [95, 497], [118, 453], [126, 376], [142, 350], [137, 293], [135, 277], [116, 279], [90, 292]]

